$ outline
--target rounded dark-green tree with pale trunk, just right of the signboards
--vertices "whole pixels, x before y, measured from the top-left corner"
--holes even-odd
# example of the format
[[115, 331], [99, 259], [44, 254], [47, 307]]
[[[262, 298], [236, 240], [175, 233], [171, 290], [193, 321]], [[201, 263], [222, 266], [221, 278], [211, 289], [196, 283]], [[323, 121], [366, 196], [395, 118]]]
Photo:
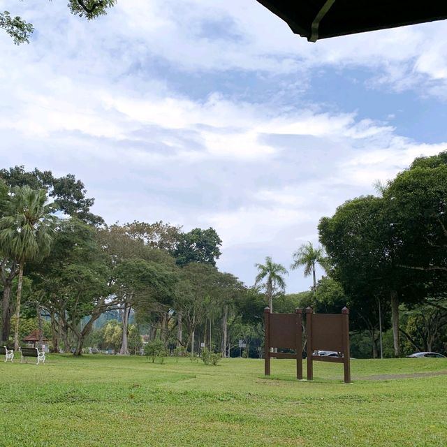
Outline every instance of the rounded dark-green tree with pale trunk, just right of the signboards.
[[320, 220], [318, 232], [333, 277], [350, 301], [376, 309], [377, 300], [390, 300], [395, 356], [400, 356], [399, 302], [420, 301], [427, 292], [423, 277], [400, 268], [406, 242], [395, 235], [386, 200], [374, 196], [349, 200], [334, 216]]

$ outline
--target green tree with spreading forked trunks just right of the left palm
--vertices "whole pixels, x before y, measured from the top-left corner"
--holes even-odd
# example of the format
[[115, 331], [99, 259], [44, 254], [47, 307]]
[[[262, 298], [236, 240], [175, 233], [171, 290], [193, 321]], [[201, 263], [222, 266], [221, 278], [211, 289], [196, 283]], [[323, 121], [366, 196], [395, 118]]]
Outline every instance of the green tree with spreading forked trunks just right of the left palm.
[[80, 355], [94, 322], [118, 305], [96, 229], [79, 219], [63, 219], [54, 233], [50, 256], [33, 268], [34, 287], [52, 318], [54, 347], [59, 336], [70, 349], [70, 334], [75, 355]]

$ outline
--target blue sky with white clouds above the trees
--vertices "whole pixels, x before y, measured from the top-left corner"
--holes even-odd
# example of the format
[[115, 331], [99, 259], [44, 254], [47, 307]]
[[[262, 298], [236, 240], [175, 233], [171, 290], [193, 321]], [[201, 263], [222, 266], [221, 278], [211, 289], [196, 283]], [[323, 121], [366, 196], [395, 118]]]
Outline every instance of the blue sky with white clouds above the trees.
[[29, 45], [0, 32], [1, 168], [74, 174], [108, 223], [212, 226], [219, 269], [247, 286], [447, 148], [445, 21], [308, 43], [256, 0], [119, 0], [90, 22], [64, 1], [0, 10], [36, 28]]

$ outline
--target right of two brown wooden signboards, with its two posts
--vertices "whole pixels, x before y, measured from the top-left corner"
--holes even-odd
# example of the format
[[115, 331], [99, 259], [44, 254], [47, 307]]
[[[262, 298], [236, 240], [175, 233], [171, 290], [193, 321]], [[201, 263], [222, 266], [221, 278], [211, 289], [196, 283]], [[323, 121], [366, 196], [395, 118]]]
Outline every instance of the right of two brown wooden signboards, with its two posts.
[[[349, 310], [344, 307], [342, 314], [314, 314], [311, 307], [306, 309], [307, 335], [307, 380], [314, 379], [314, 360], [336, 362], [344, 365], [344, 381], [351, 382], [349, 362]], [[334, 351], [339, 357], [314, 356], [314, 351]]]

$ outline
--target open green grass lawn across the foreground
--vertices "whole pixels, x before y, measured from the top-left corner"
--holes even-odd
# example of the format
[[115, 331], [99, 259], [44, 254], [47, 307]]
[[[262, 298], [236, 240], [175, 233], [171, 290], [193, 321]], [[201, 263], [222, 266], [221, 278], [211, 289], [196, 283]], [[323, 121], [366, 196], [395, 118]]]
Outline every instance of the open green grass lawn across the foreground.
[[294, 367], [0, 362], [0, 446], [447, 446], [447, 359], [353, 360], [351, 384], [342, 365], [315, 362], [314, 382]]

